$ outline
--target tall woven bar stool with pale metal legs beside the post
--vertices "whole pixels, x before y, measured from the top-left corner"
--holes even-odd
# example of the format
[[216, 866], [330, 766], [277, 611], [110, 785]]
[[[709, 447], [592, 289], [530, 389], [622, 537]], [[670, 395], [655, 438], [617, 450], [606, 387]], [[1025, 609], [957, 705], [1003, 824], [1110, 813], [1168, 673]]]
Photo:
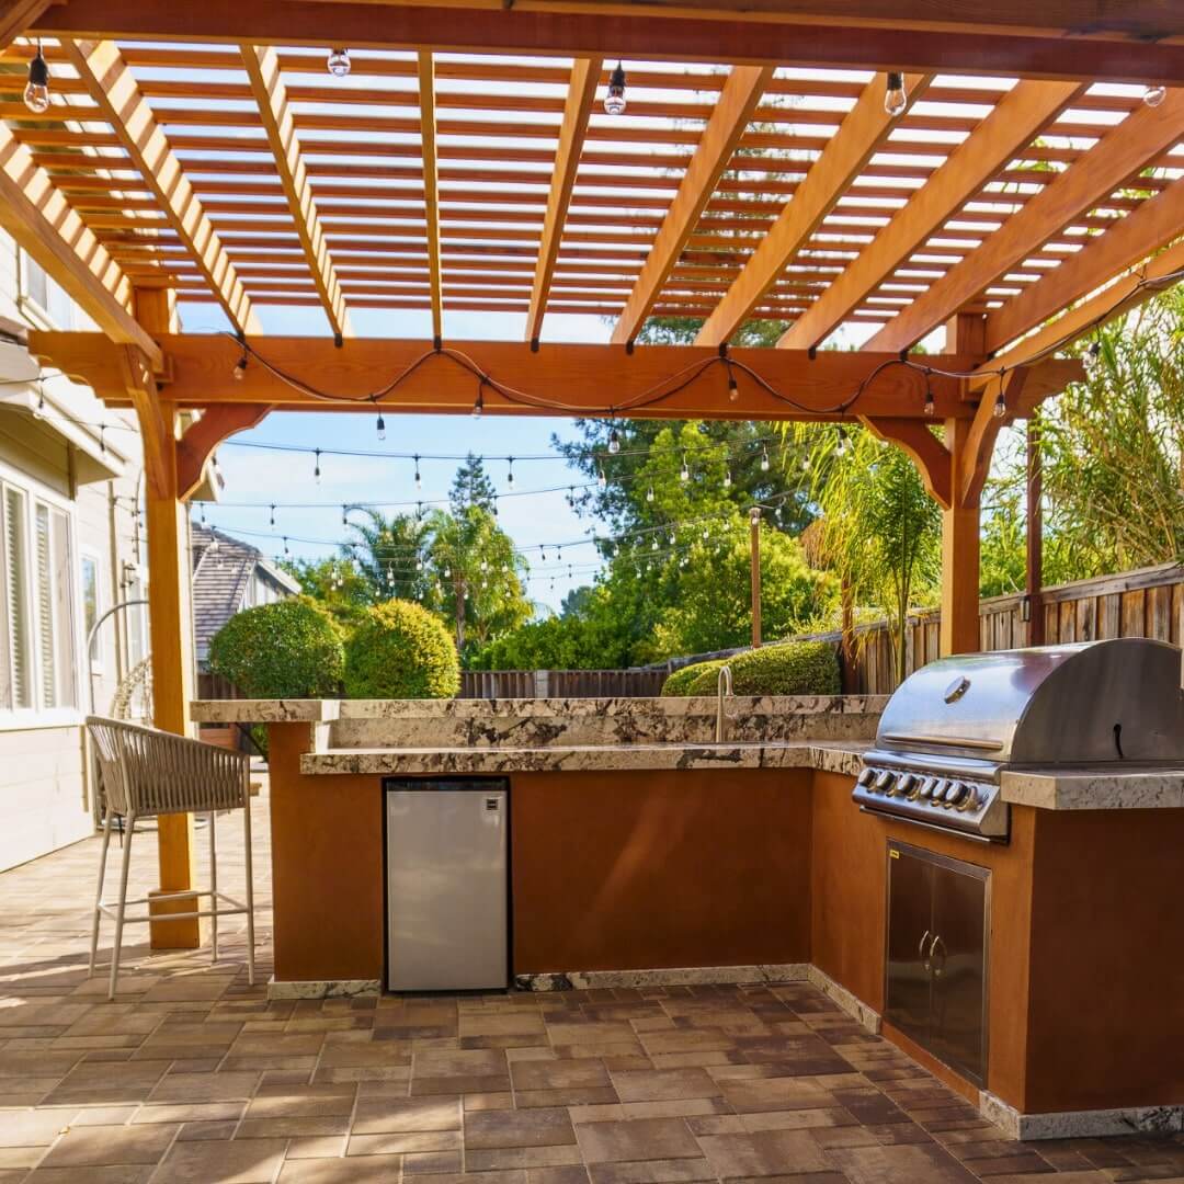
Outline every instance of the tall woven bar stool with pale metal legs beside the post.
[[[231, 752], [218, 745], [202, 744], [187, 736], [174, 735], [156, 728], [144, 728], [122, 720], [90, 716], [86, 729], [95, 745], [95, 755], [103, 776], [107, 796], [107, 821], [103, 826], [103, 851], [98, 864], [98, 888], [95, 893], [95, 918], [90, 935], [90, 973], [95, 973], [98, 950], [98, 924], [102, 916], [115, 921], [115, 944], [111, 951], [111, 982], [107, 997], [115, 998], [120, 974], [120, 950], [126, 924], [146, 924], [152, 920], [186, 920], [199, 916], [211, 919], [213, 960], [218, 960], [218, 919], [246, 914], [246, 965], [251, 985], [255, 985], [255, 888], [251, 873], [251, 760], [245, 753]], [[242, 810], [246, 842], [246, 903], [218, 890], [218, 850], [214, 817], [220, 810]], [[128, 867], [135, 824], [141, 818], [156, 818], [169, 813], [205, 813], [210, 816], [210, 887], [186, 892], [160, 893], [152, 902], [189, 900], [191, 913], [168, 913], [167, 916], [127, 916], [128, 905], [148, 905], [149, 897], [128, 900]], [[120, 895], [112, 903], [103, 900], [103, 880], [107, 852], [111, 842], [111, 822], [116, 815], [126, 819], [123, 861], [120, 875]], [[200, 901], [210, 897], [210, 908]], [[229, 907], [220, 908], [224, 903]]]

